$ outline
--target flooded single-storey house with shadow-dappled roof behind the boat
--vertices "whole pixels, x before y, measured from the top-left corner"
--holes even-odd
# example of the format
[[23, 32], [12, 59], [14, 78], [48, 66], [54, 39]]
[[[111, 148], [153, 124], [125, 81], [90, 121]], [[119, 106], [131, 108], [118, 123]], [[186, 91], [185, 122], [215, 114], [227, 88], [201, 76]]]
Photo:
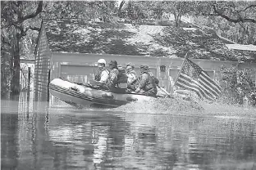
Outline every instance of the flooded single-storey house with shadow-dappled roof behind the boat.
[[87, 83], [100, 58], [117, 60], [122, 66], [132, 62], [137, 73], [139, 65], [147, 64], [160, 86], [171, 90], [186, 52], [215, 79], [219, 79], [222, 65], [239, 66], [235, 54], [207, 29], [43, 20], [35, 58], [34, 98], [47, 100], [53, 78]]

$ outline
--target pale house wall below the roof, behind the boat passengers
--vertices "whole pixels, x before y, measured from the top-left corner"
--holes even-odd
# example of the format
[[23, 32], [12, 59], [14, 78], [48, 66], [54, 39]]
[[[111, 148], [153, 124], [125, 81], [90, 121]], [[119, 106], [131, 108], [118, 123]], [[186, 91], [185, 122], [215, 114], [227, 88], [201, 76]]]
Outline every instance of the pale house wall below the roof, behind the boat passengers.
[[[176, 76], [181, 69], [183, 58], [160, 58], [146, 56], [128, 56], [128, 55], [110, 55], [110, 54], [82, 54], [82, 53], [61, 53], [53, 52], [52, 60], [52, 79], [63, 77], [78, 83], [87, 83], [94, 78], [94, 71], [97, 69], [95, 62], [104, 58], [117, 60], [118, 65], [123, 67], [126, 63], [132, 62], [135, 65], [135, 71], [139, 75], [139, 65], [149, 65], [149, 69], [159, 79], [159, 86], [164, 87], [167, 91], [171, 91], [175, 83]], [[219, 81], [221, 75], [219, 71], [222, 66], [231, 67], [234, 65], [238, 68], [239, 63], [235, 61], [222, 60], [202, 60], [191, 59], [194, 63], [202, 67], [213, 79]], [[64, 62], [65, 61], [65, 62]], [[161, 72], [160, 66], [165, 65], [166, 71]], [[248, 66], [250, 67], [250, 66]]]

